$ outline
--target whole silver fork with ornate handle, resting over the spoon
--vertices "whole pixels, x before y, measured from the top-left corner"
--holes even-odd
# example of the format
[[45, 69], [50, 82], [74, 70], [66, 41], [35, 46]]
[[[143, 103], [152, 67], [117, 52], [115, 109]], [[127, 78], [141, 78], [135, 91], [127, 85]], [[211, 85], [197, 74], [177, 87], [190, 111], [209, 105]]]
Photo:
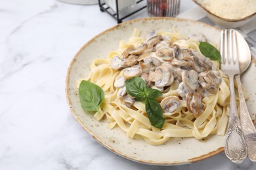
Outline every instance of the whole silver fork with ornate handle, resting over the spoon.
[[231, 161], [241, 163], [247, 157], [247, 147], [238, 118], [234, 92], [234, 75], [240, 74], [236, 41], [234, 29], [221, 31], [221, 70], [228, 75], [230, 82], [230, 112], [224, 151]]

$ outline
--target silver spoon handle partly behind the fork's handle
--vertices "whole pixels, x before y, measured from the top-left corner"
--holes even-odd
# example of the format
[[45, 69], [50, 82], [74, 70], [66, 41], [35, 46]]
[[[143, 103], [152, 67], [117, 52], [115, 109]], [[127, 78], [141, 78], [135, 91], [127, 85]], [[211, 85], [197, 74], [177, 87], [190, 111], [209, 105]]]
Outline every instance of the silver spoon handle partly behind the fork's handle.
[[245, 143], [247, 145], [248, 158], [251, 161], [256, 161], [256, 129], [251, 121], [251, 116], [245, 103], [240, 75], [236, 75], [236, 82], [238, 84], [238, 93], [240, 99], [240, 121], [242, 131], [244, 133]]

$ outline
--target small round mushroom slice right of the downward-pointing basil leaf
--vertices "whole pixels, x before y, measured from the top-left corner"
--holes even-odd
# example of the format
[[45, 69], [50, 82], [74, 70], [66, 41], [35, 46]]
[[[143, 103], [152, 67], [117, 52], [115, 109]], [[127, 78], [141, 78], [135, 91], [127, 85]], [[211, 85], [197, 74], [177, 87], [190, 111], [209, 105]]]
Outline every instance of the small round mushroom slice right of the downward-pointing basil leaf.
[[175, 112], [180, 107], [180, 99], [175, 95], [164, 98], [160, 105], [164, 112]]

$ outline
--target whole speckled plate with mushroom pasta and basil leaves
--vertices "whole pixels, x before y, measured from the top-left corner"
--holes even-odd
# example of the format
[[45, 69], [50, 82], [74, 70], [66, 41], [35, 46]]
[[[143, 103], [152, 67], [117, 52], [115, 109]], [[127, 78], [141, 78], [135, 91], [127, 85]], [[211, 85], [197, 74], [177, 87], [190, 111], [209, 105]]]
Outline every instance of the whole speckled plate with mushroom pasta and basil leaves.
[[[219, 154], [230, 95], [212, 52], [219, 41], [219, 29], [179, 18], [143, 18], [107, 29], [70, 63], [70, 110], [98, 143], [129, 160], [179, 165]], [[255, 71], [250, 65], [242, 76], [252, 118]]]

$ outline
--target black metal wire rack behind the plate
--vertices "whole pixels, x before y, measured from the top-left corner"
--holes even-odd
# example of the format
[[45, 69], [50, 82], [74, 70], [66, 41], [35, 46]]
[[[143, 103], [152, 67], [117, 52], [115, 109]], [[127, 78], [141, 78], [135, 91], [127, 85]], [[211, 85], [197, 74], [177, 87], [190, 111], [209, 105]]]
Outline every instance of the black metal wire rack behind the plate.
[[[138, 5], [139, 3], [141, 3], [144, 0], [140, 0], [136, 2], [136, 5]], [[136, 12], [139, 12], [142, 9], [146, 8], [146, 5], [144, 5], [143, 7], [140, 7], [139, 9], [130, 12], [129, 14], [126, 14], [125, 16], [122, 16], [120, 18], [120, 12], [118, 9], [118, 0], [116, 0], [116, 12], [114, 12], [114, 10], [112, 10], [110, 7], [108, 7], [108, 5], [106, 3], [102, 3], [102, 0], [98, 0], [98, 5], [100, 6], [100, 10], [101, 12], [107, 12], [108, 14], [110, 14], [110, 16], [112, 16], [113, 18], [115, 18], [117, 20], [117, 24], [121, 23], [123, 19], [135, 14]]]

